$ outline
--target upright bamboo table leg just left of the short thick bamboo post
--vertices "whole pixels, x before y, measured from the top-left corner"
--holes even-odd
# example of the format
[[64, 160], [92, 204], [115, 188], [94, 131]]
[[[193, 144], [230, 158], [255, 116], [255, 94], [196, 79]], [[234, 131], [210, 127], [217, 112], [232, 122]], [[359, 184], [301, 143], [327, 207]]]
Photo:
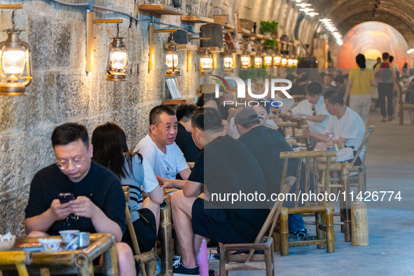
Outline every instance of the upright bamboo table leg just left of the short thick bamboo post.
[[345, 198], [342, 196], [343, 206], [340, 209], [341, 216], [343, 218], [343, 228], [345, 233], [345, 242], [351, 241], [351, 198], [350, 198], [350, 184], [348, 183], [348, 174], [349, 174], [349, 163], [342, 163], [341, 170], [341, 184], [342, 191], [345, 191]]

